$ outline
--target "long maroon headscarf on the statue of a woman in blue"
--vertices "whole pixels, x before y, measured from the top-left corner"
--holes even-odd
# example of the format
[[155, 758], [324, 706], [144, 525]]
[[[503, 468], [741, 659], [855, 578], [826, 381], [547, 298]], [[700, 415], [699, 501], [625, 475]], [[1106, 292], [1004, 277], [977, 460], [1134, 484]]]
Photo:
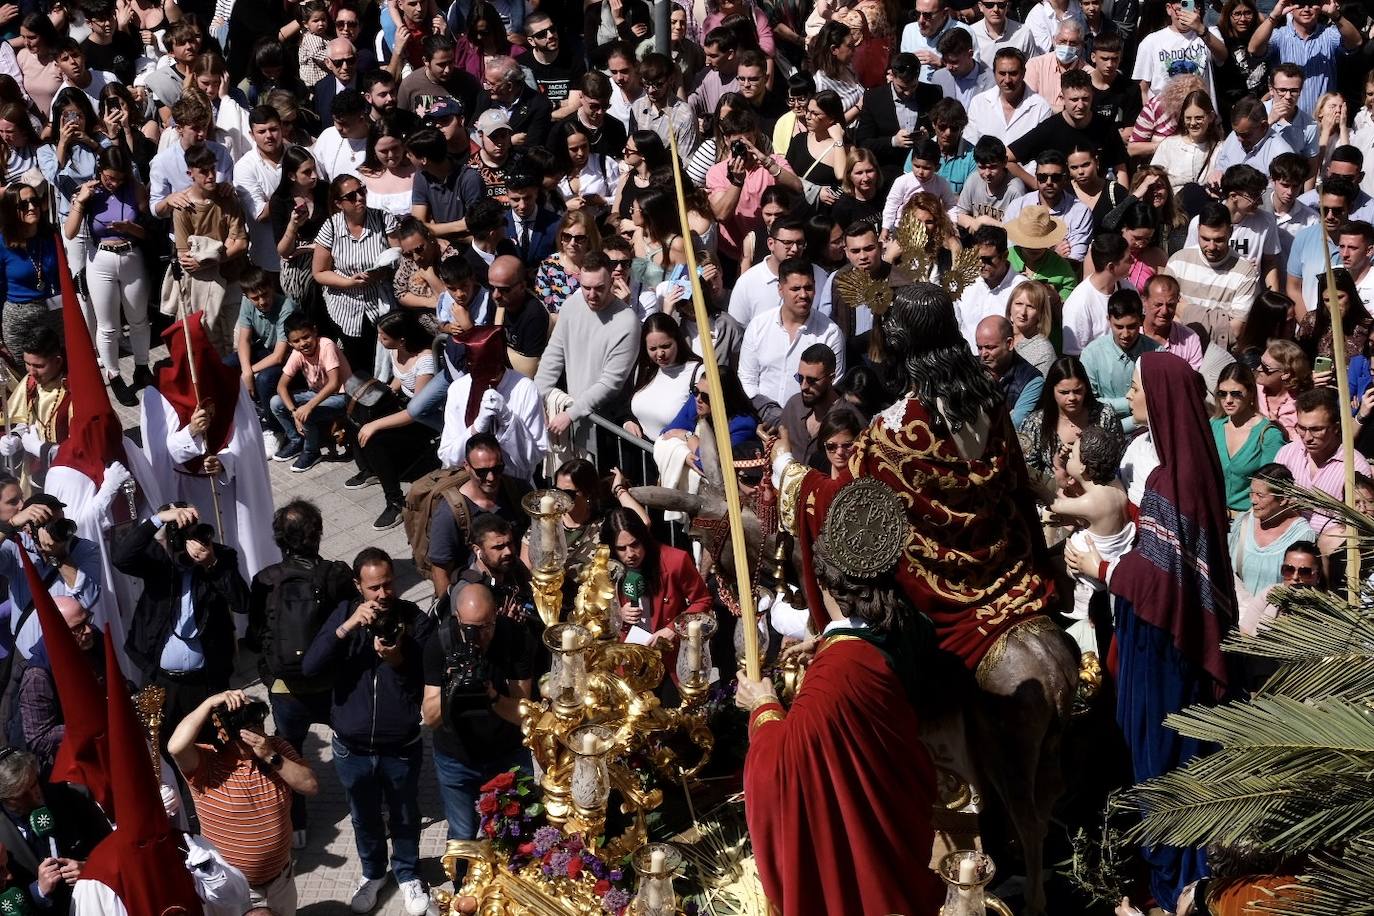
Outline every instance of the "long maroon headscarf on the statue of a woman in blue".
[[1160, 466], [1145, 482], [1135, 548], [1112, 575], [1112, 592], [1213, 680], [1227, 684], [1221, 639], [1235, 625], [1221, 461], [1212, 441], [1202, 376], [1172, 353], [1140, 357], [1140, 383]]

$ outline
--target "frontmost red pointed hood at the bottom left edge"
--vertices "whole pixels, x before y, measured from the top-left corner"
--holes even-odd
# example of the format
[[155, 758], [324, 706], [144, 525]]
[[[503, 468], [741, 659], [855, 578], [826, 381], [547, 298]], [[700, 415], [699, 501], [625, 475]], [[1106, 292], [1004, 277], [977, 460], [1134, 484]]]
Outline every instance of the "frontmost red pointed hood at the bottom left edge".
[[[114, 636], [104, 632], [106, 669], [120, 670]], [[115, 831], [91, 851], [82, 878], [114, 891], [133, 916], [203, 916], [180, 838], [158, 791], [148, 735], [139, 724], [122, 677], [109, 678], [110, 781]]]

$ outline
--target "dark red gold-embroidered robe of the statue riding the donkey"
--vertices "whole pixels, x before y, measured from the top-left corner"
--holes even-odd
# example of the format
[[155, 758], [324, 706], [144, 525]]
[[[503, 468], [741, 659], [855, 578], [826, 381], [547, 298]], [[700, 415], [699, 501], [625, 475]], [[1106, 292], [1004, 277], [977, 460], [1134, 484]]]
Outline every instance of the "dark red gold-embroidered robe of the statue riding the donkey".
[[992, 423], [982, 457], [969, 460], [930, 428], [925, 408], [912, 398], [900, 428], [878, 417], [864, 430], [846, 474], [830, 479], [811, 471], [802, 482], [798, 540], [818, 629], [829, 619], [811, 545], [830, 501], [853, 477], [877, 478], [905, 503], [914, 534], [897, 581], [934, 622], [940, 648], [969, 669], [1002, 633], [1048, 607], [1054, 575], [1010, 416], [1003, 412]]

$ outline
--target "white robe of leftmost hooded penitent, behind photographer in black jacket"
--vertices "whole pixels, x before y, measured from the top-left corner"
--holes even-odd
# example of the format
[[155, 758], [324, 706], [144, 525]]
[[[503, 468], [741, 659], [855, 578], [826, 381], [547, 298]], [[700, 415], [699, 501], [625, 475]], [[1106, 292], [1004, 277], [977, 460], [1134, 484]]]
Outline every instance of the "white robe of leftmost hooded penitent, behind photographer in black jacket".
[[[151, 515], [157, 507], [166, 500], [162, 496], [162, 483], [153, 472], [148, 460], [139, 450], [139, 446], [125, 437], [124, 453], [128, 457], [128, 470], [143, 490], [142, 500], [135, 507], [135, 519], [140, 520]], [[128, 633], [128, 623], [133, 618], [133, 608], [139, 603], [143, 584], [120, 573], [110, 562], [111, 537], [122, 534], [114, 530], [115, 500], [124, 503], [125, 496], [110, 488], [96, 488], [95, 481], [70, 467], [54, 467], [44, 481], [44, 492], [55, 496], [66, 504], [66, 515], [76, 522], [77, 534], [100, 547], [100, 569], [103, 571], [100, 602], [98, 607], [88, 608], [92, 622], [104, 632], [104, 625], [110, 625], [114, 633], [114, 648], [120, 656], [120, 667], [126, 677], [135, 677], [136, 670], [124, 654], [124, 641]]]

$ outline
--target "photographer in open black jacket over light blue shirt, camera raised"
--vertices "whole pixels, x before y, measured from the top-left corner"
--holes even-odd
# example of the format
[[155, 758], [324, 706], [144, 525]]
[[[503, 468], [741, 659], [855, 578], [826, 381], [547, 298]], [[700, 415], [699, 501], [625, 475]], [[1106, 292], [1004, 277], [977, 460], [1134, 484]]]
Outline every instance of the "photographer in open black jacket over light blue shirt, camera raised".
[[125, 643], [129, 661], [144, 684], [166, 689], [166, 721], [179, 722], [229, 685], [234, 615], [249, 607], [238, 553], [214, 542], [214, 527], [194, 507], [172, 503], [129, 529], [110, 559], [143, 582]]

